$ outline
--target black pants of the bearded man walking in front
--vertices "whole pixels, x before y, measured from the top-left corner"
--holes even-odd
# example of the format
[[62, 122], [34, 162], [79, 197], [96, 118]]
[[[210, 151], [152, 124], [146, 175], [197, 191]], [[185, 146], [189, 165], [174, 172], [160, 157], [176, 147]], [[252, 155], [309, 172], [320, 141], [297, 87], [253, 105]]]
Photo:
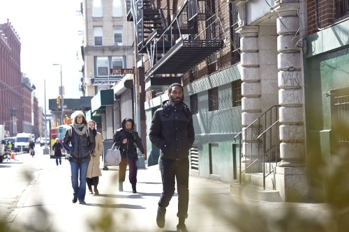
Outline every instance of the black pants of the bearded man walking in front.
[[188, 217], [189, 203], [189, 159], [181, 161], [160, 160], [161, 178], [163, 179], [163, 193], [158, 206], [167, 207], [174, 194], [175, 180], [177, 180], [178, 212], [177, 217]]

